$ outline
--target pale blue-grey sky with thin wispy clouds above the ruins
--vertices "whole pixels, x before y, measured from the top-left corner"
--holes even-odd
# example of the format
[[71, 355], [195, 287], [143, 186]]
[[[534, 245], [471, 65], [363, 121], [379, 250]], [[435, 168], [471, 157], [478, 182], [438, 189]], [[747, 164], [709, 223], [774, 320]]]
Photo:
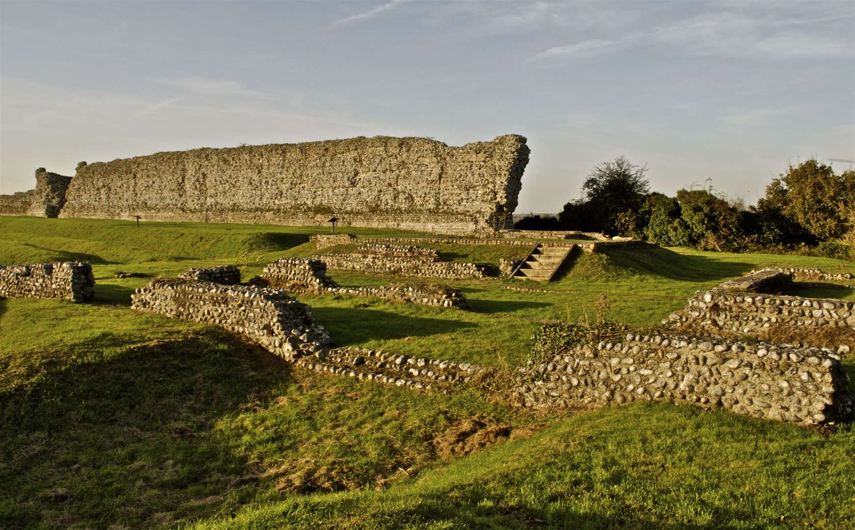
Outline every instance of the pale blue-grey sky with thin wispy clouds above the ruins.
[[[0, 2], [0, 192], [163, 150], [516, 133], [516, 213], [625, 155], [755, 203], [855, 160], [855, 2]], [[842, 161], [842, 162], [840, 162]]]

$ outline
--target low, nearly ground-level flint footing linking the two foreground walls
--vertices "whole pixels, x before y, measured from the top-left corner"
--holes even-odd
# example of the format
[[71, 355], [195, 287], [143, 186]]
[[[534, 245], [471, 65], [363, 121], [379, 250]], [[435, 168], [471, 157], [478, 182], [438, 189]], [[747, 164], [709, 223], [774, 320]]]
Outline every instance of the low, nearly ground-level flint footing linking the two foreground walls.
[[336, 348], [327, 355], [303, 357], [296, 364], [317, 372], [368, 380], [411, 389], [447, 392], [450, 386], [469, 381], [485, 368], [469, 362], [439, 361], [398, 356], [368, 348]]

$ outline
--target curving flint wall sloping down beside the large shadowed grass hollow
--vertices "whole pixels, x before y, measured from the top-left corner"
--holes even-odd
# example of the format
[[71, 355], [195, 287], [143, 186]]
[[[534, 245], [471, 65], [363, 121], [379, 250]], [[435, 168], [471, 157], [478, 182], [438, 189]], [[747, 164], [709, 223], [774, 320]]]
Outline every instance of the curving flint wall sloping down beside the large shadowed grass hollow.
[[214, 324], [289, 361], [330, 344], [329, 333], [315, 326], [310, 306], [279, 289], [157, 279], [135, 291], [131, 309]]

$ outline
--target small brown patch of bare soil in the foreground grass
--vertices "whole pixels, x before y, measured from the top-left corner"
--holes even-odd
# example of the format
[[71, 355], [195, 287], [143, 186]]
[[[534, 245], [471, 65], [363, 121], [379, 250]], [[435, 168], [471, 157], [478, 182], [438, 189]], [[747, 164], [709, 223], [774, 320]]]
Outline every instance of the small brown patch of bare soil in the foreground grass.
[[480, 451], [490, 445], [524, 438], [537, 432], [537, 425], [510, 427], [486, 415], [475, 415], [451, 424], [444, 433], [435, 437], [430, 445], [437, 456], [448, 460]]

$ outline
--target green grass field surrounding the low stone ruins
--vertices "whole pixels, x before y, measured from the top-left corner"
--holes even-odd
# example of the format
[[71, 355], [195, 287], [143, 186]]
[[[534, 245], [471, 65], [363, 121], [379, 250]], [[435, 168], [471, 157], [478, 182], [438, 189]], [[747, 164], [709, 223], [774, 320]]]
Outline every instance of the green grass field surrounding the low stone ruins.
[[[320, 231], [0, 217], [0, 264], [85, 259], [97, 278], [95, 303], [0, 300], [0, 527], [852, 527], [851, 424], [823, 435], [641, 403], [532, 415], [474, 388], [322, 377], [218, 328], [128, 307], [157, 275], [223, 263], [251, 275], [314, 254]], [[519, 251], [439, 250], [484, 262]], [[471, 312], [301, 300], [339, 345], [503, 367], [522, 362], [542, 321], [593, 318], [601, 294], [613, 320], [651, 326], [694, 291], [766, 265], [855, 272], [805, 256], [616, 250], [534, 285], [549, 292], [451, 282]], [[472, 421], [482, 427], [469, 445], [449, 438]]]

